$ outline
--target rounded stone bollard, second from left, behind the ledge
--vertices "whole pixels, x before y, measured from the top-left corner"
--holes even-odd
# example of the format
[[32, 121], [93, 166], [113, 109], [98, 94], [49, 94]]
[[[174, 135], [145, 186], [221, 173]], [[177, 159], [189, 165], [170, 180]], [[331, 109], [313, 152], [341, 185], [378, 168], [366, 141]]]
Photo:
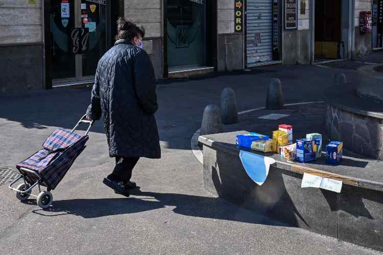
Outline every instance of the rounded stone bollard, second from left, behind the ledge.
[[234, 124], [238, 122], [237, 101], [235, 92], [231, 88], [225, 88], [221, 93], [221, 116], [222, 123]]

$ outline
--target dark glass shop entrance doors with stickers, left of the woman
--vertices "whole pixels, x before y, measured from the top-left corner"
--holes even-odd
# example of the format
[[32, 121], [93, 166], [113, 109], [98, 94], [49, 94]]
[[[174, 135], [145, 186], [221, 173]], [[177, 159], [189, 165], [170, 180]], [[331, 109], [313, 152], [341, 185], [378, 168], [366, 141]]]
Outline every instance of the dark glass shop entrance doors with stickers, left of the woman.
[[49, 73], [54, 83], [92, 80], [107, 49], [107, 0], [51, 0]]

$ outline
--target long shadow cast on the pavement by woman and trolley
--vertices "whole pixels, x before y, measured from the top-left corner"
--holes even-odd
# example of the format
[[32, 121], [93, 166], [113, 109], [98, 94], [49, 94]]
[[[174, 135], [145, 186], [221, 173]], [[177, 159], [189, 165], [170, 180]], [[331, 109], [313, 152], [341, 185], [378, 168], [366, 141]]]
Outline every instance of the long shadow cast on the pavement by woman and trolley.
[[[249, 213], [236, 206], [228, 206], [228, 202], [221, 198], [203, 197], [173, 193], [131, 191], [134, 196], [141, 198], [99, 198], [99, 199], [70, 199], [53, 202], [53, 206], [45, 210], [35, 210], [33, 213], [46, 217], [61, 215], [76, 215], [83, 218], [99, 218], [110, 215], [132, 214], [145, 211], [176, 207], [173, 212], [181, 215], [222, 219], [253, 224], [288, 226], [284, 223], [270, 220], [256, 213]], [[35, 205], [35, 200], [26, 203]]]

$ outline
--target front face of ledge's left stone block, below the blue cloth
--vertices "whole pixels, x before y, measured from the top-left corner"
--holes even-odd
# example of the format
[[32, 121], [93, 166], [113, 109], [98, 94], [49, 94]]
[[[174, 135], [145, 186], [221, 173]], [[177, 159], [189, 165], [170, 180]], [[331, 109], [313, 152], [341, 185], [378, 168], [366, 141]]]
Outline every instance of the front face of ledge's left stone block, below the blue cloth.
[[205, 145], [203, 150], [204, 187], [212, 194], [291, 226], [337, 237], [336, 193], [302, 189], [301, 174], [275, 167], [259, 186], [238, 156]]

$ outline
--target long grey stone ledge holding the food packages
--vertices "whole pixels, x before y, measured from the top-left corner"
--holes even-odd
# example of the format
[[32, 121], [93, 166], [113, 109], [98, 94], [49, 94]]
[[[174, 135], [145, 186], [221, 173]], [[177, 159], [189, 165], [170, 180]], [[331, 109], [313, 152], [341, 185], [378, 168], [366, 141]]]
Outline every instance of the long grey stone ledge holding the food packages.
[[[290, 226], [383, 250], [383, 193], [380, 183], [361, 178], [344, 180], [341, 193], [319, 188], [302, 189], [301, 172], [304, 171], [331, 174], [333, 179], [348, 177], [339, 171], [335, 174], [323, 172], [317, 169], [320, 167], [313, 168], [311, 164], [277, 160], [276, 164], [270, 166], [266, 182], [258, 186], [243, 169], [238, 157], [240, 148], [233, 143], [236, 134], [244, 133], [199, 137], [204, 150], [203, 178], [206, 190]], [[275, 158], [273, 154], [264, 155]], [[372, 170], [370, 168], [373, 166], [370, 165], [367, 170]], [[375, 176], [374, 180], [382, 178]]]

